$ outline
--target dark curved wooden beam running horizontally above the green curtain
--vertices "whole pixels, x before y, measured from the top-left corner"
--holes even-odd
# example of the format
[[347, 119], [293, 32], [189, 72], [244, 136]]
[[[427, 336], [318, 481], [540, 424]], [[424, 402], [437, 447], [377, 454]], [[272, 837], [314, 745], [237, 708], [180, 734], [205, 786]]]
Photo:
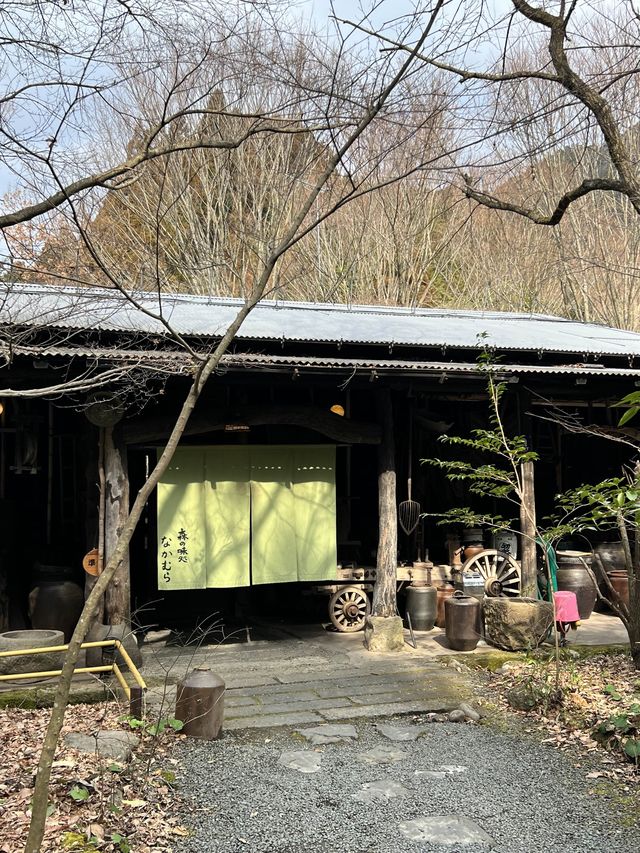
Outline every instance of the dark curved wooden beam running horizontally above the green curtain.
[[[162, 441], [173, 428], [172, 416], [140, 418], [123, 423], [119, 436], [126, 444], [146, 444]], [[315, 406], [269, 406], [239, 407], [230, 410], [217, 409], [211, 413], [194, 414], [190, 418], [184, 435], [201, 435], [223, 430], [227, 424], [246, 426], [287, 425], [314, 430], [333, 441], [345, 444], [379, 444], [381, 430], [378, 424], [352, 421]]]

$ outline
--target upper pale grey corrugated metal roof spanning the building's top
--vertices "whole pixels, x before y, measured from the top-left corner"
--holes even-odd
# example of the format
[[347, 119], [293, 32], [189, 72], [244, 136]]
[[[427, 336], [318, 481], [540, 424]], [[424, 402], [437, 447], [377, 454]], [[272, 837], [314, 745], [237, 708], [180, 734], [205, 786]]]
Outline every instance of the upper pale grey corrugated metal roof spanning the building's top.
[[[7, 285], [5, 285], [7, 287]], [[241, 300], [187, 294], [120, 293], [99, 288], [10, 285], [0, 322], [65, 329], [166, 334], [159, 314], [181, 335], [219, 337]], [[145, 311], [150, 313], [145, 313]], [[482, 335], [482, 340], [479, 339]], [[420, 346], [640, 355], [640, 334], [540, 314], [326, 305], [264, 300], [245, 320], [240, 340]]]

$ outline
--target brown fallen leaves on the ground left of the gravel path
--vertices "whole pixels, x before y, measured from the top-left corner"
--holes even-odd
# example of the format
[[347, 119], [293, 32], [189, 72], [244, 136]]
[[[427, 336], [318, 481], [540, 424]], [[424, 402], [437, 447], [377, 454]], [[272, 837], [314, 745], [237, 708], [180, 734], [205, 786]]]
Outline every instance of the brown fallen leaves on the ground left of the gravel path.
[[[48, 818], [42, 853], [169, 853], [171, 839], [186, 837], [185, 805], [175, 790], [171, 737], [145, 735], [129, 764], [101, 759], [64, 744], [69, 731], [91, 734], [122, 729], [116, 702], [67, 709], [52, 764]], [[22, 853], [31, 799], [49, 711], [0, 711], [0, 853]], [[170, 780], [170, 781], [169, 781]], [[141, 797], [140, 795], [144, 796]]]

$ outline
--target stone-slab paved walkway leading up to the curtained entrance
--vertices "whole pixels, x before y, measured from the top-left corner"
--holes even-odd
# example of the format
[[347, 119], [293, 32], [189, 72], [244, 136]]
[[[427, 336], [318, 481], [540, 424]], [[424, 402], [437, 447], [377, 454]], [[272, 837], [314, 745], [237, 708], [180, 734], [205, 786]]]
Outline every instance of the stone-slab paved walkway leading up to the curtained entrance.
[[[165, 707], [171, 707], [175, 688], [164, 686], [167, 672], [175, 682], [206, 663], [225, 680], [225, 728], [230, 730], [443, 712], [469, 698], [460, 688], [464, 677], [413, 650], [374, 655], [363, 649], [360, 637], [309, 632], [300, 639], [278, 628], [272, 633], [277, 638], [272, 642], [195, 652], [189, 647], [182, 657], [177, 648], [145, 654], [145, 673], [156, 682], [163, 679], [151, 694], [165, 693]], [[157, 704], [158, 695], [149, 700]]]

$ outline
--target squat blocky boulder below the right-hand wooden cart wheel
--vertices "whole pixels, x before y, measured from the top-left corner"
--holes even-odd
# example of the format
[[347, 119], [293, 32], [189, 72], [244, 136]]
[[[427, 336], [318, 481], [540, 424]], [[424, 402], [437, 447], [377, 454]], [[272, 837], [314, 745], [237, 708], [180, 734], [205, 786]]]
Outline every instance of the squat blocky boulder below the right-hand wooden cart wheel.
[[553, 604], [534, 598], [484, 599], [484, 631], [488, 643], [518, 652], [535, 649], [553, 625]]

